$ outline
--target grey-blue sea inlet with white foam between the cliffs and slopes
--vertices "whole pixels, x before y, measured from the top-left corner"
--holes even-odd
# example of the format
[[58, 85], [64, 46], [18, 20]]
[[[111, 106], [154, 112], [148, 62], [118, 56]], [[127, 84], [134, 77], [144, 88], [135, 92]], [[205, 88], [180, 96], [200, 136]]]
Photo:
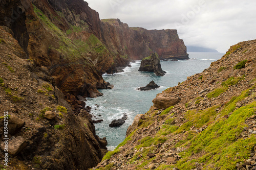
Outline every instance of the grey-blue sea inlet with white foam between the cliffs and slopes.
[[[103, 96], [87, 101], [92, 107], [94, 119], [103, 119], [102, 123], [95, 124], [96, 134], [106, 137], [108, 149], [114, 150], [125, 138], [127, 128], [133, 123], [137, 114], [144, 114], [153, 105], [152, 100], [156, 94], [161, 93], [168, 87], [173, 87], [178, 82], [183, 82], [188, 76], [202, 72], [217, 61], [224, 54], [221, 53], [189, 53], [189, 60], [161, 61], [162, 69], [167, 72], [163, 77], [155, 76], [150, 72], [138, 71], [140, 61], [131, 63], [132, 67], [125, 67], [124, 72], [114, 75], [103, 75], [105, 81], [115, 87], [113, 89], [102, 89]], [[150, 91], [139, 91], [136, 88], [146, 86], [152, 80], [160, 88]], [[99, 105], [99, 107], [95, 106]], [[128, 119], [119, 128], [111, 128], [109, 124], [113, 119], [121, 118], [123, 113]], [[99, 116], [100, 115], [100, 116]]]

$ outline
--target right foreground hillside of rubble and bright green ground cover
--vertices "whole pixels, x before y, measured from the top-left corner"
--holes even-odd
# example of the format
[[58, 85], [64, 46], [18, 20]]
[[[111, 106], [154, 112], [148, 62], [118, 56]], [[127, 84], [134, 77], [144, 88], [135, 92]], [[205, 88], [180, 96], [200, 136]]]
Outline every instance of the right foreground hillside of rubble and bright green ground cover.
[[96, 168], [255, 169], [255, 49], [256, 40], [233, 45], [158, 94]]

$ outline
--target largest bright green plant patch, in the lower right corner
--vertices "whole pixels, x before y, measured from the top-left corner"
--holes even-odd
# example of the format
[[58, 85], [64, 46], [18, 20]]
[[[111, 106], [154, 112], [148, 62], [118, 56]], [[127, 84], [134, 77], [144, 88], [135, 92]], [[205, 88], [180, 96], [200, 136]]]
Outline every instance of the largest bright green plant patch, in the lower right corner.
[[[224, 114], [228, 114], [231, 103], [222, 111]], [[234, 111], [229, 118], [220, 118], [218, 122], [209, 125], [189, 141], [190, 147], [180, 153], [182, 159], [176, 165], [186, 170], [193, 168], [194, 162], [199, 162], [204, 164], [204, 168], [215, 165], [220, 169], [235, 169], [236, 162], [249, 158], [256, 142], [254, 134], [246, 139], [242, 138], [245, 120], [254, 114], [255, 108], [256, 102], [252, 102]], [[194, 159], [190, 157], [197, 153], [206, 154], [199, 154], [198, 158], [193, 156]]]

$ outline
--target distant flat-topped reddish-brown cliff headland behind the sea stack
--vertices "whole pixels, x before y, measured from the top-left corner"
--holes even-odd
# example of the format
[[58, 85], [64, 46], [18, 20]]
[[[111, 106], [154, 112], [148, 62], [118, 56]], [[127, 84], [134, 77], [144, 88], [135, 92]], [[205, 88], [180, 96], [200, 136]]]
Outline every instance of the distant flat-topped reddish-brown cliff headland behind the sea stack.
[[119, 19], [102, 19], [102, 38], [106, 46], [124, 57], [142, 60], [153, 52], [160, 59], [188, 59], [186, 46], [177, 30], [129, 28]]

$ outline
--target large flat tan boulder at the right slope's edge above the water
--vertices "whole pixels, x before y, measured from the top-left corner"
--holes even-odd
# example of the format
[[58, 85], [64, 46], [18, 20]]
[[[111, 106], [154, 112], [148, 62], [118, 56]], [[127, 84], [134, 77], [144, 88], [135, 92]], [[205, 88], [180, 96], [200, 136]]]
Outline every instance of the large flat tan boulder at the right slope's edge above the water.
[[152, 102], [158, 109], [166, 109], [170, 106], [174, 106], [180, 103], [180, 101], [181, 100], [177, 98], [167, 98], [165, 96], [159, 95]]

